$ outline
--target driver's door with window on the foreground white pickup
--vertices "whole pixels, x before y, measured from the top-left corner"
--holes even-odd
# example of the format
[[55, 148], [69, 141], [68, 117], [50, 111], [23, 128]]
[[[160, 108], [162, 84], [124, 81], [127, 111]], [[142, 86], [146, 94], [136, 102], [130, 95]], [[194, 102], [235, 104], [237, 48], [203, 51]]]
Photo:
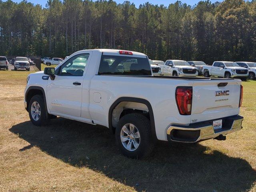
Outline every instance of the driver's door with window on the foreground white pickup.
[[90, 53], [72, 56], [56, 69], [54, 80], [49, 78], [47, 103], [51, 112], [81, 116], [82, 86], [89, 56]]

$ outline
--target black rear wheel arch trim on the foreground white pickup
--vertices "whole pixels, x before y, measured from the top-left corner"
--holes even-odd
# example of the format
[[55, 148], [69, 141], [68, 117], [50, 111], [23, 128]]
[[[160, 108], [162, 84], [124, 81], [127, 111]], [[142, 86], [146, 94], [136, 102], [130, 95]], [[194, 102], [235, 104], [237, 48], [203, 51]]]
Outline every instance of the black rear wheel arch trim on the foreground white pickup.
[[[151, 134], [152, 134], [153, 138], [156, 139], [156, 128], [155, 128], [154, 113], [153, 113], [152, 106], [151, 106], [150, 102], [148, 102], [148, 100], [145, 100], [142, 98], [121, 97], [121, 98], [118, 98], [110, 106], [109, 112], [108, 112], [108, 127], [110, 128], [112, 133], [115, 133], [115, 127], [112, 125], [112, 114], [113, 114], [114, 108], [116, 106], [118, 106], [118, 104], [120, 104], [121, 102], [136, 102], [136, 103], [144, 104], [147, 106], [148, 114], [149, 114], [149, 118], [150, 118]], [[135, 112], [135, 113], [137, 113], [137, 112]]]

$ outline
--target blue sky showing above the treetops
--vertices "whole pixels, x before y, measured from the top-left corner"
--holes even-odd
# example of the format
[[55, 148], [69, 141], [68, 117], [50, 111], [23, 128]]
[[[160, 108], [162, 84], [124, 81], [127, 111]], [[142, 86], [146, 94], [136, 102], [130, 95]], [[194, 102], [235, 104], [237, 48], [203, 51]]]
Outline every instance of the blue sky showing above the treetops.
[[[6, 0], [4, 0], [6, 1]], [[14, 2], [21, 2], [21, 0], [12, 0]], [[117, 3], [123, 3], [124, 0], [115, 0]], [[151, 4], [164, 4], [165, 6], [168, 6], [170, 3], [174, 3], [177, 0], [130, 0], [130, 2], [134, 3], [136, 7], [138, 7], [140, 4], [143, 4], [145, 2], [150, 2]], [[197, 4], [200, 0], [180, 0], [182, 3], [186, 3], [188, 5], [193, 6], [194, 4]], [[211, 0], [212, 3], [216, 2], [217, 0]], [[219, 0], [222, 1], [222, 0]], [[28, 2], [32, 2], [33, 4], [40, 4], [43, 7], [45, 6], [47, 0], [28, 0]]]

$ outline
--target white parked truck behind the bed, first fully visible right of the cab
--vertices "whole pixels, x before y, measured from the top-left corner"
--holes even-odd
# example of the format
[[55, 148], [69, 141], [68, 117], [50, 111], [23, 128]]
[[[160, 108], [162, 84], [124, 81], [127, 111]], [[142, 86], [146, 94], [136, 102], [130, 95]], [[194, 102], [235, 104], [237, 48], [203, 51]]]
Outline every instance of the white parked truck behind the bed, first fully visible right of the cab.
[[198, 69], [190, 66], [188, 62], [183, 60], [166, 60], [165, 64], [161, 67], [163, 68], [164, 75], [198, 76]]

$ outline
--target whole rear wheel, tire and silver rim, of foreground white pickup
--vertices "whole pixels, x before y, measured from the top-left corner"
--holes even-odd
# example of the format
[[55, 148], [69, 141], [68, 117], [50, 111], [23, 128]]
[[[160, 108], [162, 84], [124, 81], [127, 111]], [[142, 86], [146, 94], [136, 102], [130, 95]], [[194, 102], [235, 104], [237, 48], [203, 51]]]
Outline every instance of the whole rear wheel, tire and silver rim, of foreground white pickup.
[[116, 142], [125, 156], [130, 158], [148, 156], [154, 148], [148, 118], [142, 114], [123, 116], [116, 128]]

